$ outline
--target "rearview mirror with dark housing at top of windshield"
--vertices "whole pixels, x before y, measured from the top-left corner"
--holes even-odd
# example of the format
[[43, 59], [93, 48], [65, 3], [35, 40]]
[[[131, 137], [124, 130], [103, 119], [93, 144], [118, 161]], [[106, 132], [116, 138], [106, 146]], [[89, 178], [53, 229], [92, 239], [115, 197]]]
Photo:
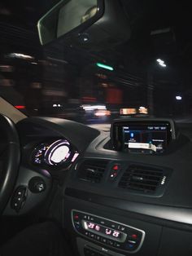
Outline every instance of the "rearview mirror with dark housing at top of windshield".
[[71, 45], [118, 43], [130, 37], [119, 0], [62, 0], [37, 24], [41, 45], [63, 38]]

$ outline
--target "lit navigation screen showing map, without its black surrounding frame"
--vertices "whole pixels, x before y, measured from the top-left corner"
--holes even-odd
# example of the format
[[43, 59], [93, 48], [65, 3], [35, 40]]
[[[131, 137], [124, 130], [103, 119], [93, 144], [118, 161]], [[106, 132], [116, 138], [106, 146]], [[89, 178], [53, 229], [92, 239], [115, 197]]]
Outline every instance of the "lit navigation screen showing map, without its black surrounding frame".
[[167, 147], [167, 126], [123, 126], [125, 148], [141, 148], [162, 152]]

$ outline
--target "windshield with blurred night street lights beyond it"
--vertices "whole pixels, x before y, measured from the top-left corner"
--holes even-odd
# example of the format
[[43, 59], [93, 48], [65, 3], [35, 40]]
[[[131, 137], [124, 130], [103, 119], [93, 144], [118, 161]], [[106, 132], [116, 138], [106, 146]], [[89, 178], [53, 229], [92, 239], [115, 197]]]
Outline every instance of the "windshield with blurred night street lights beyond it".
[[28, 116], [85, 124], [120, 117], [192, 121], [190, 4], [122, 0], [131, 37], [42, 47], [37, 20], [59, 1], [0, 3], [0, 95]]

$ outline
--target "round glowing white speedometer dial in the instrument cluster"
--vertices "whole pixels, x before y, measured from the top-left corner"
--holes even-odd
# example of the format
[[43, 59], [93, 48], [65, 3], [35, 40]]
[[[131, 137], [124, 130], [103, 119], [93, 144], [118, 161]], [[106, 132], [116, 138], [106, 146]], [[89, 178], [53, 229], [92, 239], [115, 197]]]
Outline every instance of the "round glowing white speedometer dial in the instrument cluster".
[[71, 146], [67, 140], [59, 139], [47, 148], [45, 161], [51, 166], [57, 166], [68, 161], [72, 156]]

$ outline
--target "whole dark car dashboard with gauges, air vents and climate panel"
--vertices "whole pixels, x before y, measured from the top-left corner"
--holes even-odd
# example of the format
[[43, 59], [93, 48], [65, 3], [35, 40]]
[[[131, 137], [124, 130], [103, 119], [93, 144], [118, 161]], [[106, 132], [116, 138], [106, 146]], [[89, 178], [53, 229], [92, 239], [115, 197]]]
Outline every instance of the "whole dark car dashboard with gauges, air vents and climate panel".
[[19, 183], [25, 197], [15, 208], [14, 194], [5, 214], [27, 214], [57, 180], [56, 218], [76, 255], [191, 255], [192, 143], [182, 131], [153, 154], [117, 150], [110, 132], [68, 120], [30, 117], [16, 127], [15, 192]]

